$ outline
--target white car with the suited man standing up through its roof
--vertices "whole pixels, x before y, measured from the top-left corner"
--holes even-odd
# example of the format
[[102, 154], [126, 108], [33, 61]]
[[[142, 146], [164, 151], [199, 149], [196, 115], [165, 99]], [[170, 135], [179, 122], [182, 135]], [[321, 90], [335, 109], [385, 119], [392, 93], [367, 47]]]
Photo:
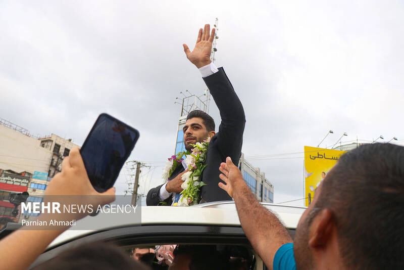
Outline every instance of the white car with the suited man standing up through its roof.
[[[306, 207], [269, 203], [262, 205], [278, 215], [293, 238], [297, 222]], [[191, 207], [140, 208], [141, 221], [117, 217], [110, 218], [107, 223], [96, 222], [97, 219], [102, 219], [102, 214], [77, 221], [84, 223], [90, 220], [92, 230], [70, 228], [55, 239], [31, 267], [55, 257], [66, 249], [84, 243], [103, 241], [114, 243], [128, 252], [136, 247], [154, 249], [158, 245], [169, 244], [212, 245], [213, 248], [220, 247], [221, 252], [227, 250], [225, 252], [228, 258], [243, 256], [244, 263], [248, 264], [244, 269], [266, 269], [245, 237], [233, 201], [204, 203]], [[240, 255], [242, 251], [244, 255]], [[168, 268], [168, 266], [159, 267], [161, 267], [159, 269]]]

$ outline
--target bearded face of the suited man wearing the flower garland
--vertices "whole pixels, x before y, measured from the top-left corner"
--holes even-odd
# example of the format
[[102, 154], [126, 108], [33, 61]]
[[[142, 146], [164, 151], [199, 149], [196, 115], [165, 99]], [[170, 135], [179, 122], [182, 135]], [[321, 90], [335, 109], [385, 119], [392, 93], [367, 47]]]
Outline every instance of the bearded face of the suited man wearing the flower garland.
[[192, 149], [191, 144], [201, 143], [209, 136], [204, 120], [199, 117], [186, 120], [182, 130], [184, 131], [185, 149], [189, 152]]

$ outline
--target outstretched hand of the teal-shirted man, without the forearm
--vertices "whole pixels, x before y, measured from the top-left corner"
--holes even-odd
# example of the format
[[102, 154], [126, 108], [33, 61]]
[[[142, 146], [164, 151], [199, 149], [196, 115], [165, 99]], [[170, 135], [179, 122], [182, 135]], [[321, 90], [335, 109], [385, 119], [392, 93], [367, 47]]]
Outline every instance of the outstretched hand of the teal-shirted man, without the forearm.
[[223, 180], [225, 184], [219, 183], [219, 187], [225, 190], [230, 197], [233, 197], [233, 189], [234, 186], [237, 185], [237, 182], [243, 182], [243, 177], [241, 175], [241, 171], [233, 164], [230, 157], [226, 158], [226, 163], [222, 162], [220, 164], [219, 170], [222, 172], [219, 177]]

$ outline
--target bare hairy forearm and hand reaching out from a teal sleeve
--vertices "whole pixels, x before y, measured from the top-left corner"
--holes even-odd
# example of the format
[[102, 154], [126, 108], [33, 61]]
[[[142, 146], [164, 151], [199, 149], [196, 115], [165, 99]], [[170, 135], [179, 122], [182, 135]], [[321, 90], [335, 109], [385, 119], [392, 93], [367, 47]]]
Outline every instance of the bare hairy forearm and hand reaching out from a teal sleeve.
[[245, 235], [267, 267], [272, 269], [276, 251], [292, 239], [282, 222], [257, 201], [229, 157], [219, 169], [220, 178], [226, 183], [219, 183], [219, 187], [233, 197]]

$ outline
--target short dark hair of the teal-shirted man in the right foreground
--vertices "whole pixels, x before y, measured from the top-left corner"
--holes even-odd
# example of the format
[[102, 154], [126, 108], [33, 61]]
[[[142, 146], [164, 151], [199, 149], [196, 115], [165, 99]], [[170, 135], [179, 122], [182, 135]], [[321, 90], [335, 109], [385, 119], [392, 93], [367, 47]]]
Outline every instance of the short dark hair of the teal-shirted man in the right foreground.
[[404, 269], [404, 147], [368, 144], [343, 154], [315, 208], [332, 211], [346, 267]]

